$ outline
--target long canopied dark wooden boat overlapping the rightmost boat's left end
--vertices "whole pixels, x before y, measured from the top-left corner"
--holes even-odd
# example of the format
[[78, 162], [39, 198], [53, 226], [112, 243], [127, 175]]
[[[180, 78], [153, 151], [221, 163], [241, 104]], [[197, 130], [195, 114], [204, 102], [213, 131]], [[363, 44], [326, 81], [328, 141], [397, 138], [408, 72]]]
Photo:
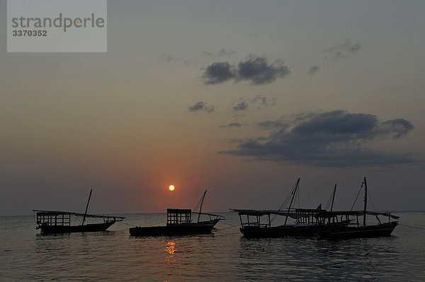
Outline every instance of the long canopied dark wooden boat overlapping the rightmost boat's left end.
[[[315, 236], [319, 230], [329, 228], [331, 225], [346, 225], [346, 221], [327, 221], [327, 218], [322, 216], [326, 211], [319, 207], [317, 209], [292, 208], [299, 184], [300, 179], [298, 178], [295, 188], [291, 192], [292, 198], [288, 211], [281, 211], [282, 207], [277, 211], [232, 208], [232, 211], [239, 213], [239, 220], [241, 222], [241, 228], [239, 230], [244, 237]], [[283, 216], [285, 221], [282, 225], [272, 226], [271, 223], [277, 216]], [[292, 218], [295, 222], [288, 223], [288, 218]]]

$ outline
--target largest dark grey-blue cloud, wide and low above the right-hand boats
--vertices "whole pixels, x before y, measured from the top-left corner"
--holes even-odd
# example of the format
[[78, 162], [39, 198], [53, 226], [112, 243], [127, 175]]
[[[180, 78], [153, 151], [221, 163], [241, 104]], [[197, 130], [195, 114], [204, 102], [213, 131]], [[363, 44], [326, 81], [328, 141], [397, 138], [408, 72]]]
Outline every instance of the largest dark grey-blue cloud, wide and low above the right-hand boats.
[[406, 119], [379, 122], [373, 114], [342, 110], [298, 114], [288, 122], [260, 122], [271, 129], [264, 139], [243, 139], [231, 155], [279, 163], [300, 163], [324, 167], [373, 166], [414, 163], [411, 154], [390, 153], [365, 146], [366, 141], [398, 139], [413, 124]]

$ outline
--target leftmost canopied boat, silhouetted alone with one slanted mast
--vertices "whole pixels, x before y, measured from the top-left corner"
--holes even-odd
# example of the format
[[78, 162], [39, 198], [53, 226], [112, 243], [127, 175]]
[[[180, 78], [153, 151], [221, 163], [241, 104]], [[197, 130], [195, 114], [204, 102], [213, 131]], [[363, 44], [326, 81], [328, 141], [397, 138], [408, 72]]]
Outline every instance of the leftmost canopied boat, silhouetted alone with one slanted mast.
[[[123, 221], [123, 216], [96, 216], [87, 214], [89, 208], [89, 201], [87, 201], [85, 213], [74, 213], [69, 211], [40, 211], [33, 210], [37, 213], [37, 228], [41, 229], [42, 234], [57, 234], [57, 233], [74, 233], [74, 232], [96, 232], [106, 231], [111, 225], [117, 221]], [[80, 225], [71, 225], [72, 218], [83, 218]], [[101, 223], [86, 223], [86, 218], [102, 218]]]

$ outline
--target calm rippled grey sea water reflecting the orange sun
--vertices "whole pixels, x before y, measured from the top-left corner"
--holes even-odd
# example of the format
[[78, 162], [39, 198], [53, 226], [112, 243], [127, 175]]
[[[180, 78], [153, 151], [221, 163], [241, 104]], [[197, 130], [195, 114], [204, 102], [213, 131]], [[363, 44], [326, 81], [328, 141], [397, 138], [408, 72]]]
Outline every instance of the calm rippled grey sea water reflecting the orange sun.
[[425, 281], [424, 212], [395, 213], [391, 237], [339, 241], [246, 240], [237, 213], [220, 214], [212, 235], [190, 237], [129, 236], [165, 214], [65, 235], [40, 235], [33, 216], [0, 217], [0, 281]]

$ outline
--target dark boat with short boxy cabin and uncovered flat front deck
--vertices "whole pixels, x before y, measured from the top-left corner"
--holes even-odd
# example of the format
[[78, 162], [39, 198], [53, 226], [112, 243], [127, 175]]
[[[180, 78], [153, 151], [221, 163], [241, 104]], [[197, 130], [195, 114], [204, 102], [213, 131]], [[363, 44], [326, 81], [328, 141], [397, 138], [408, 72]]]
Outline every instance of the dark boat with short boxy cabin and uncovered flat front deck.
[[[212, 228], [218, 221], [224, 219], [223, 216], [218, 216], [212, 213], [203, 213], [202, 205], [205, 198], [205, 190], [200, 201], [199, 212], [193, 212], [191, 209], [182, 208], [167, 208], [166, 210], [166, 225], [165, 226], [147, 226], [130, 228], [131, 236], [166, 236], [166, 235], [191, 235], [191, 234], [208, 234], [212, 233]], [[198, 219], [195, 220], [198, 215]], [[200, 221], [200, 216], [208, 216], [208, 221]]]

